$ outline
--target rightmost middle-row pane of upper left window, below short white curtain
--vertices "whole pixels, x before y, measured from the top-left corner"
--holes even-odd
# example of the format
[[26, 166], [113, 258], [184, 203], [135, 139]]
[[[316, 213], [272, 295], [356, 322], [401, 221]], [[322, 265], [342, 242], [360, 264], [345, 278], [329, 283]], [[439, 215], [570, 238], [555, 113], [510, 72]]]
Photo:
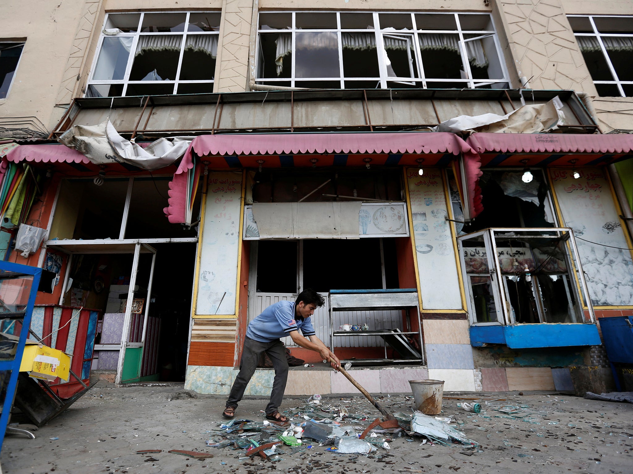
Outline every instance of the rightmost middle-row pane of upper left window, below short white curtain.
[[180, 66], [180, 80], [213, 79], [217, 55], [218, 35], [187, 35]]

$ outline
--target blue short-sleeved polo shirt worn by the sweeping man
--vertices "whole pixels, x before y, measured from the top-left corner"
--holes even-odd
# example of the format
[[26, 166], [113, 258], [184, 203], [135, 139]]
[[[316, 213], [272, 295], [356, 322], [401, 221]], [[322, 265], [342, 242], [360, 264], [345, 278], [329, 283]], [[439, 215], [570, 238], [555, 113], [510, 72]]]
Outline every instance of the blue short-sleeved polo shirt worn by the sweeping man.
[[263, 310], [246, 328], [246, 337], [260, 343], [270, 343], [275, 339], [289, 336], [292, 331], [301, 329], [304, 337], [316, 334], [310, 317], [295, 318], [292, 301], [279, 301]]

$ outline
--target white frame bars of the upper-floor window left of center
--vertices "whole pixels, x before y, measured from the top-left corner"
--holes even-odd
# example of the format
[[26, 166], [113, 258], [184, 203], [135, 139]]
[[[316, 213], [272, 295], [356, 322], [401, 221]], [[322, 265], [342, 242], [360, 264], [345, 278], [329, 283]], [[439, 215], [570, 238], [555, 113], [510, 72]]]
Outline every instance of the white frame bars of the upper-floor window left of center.
[[[128, 12], [128, 13], [137, 13], [137, 12]], [[154, 13], [170, 13], [170, 14], [177, 14], [177, 13], [185, 13], [185, 28], [184, 31], [182, 32], [141, 32], [141, 25], [143, 24], [143, 19], [145, 14], [149, 14], [149, 15], [153, 15]], [[129, 32], [129, 33], [117, 33], [116, 35], [106, 35], [103, 33], [104, 28], [106, 28], [106, 25], [108, 24], [108, 17], [110, 15], [120, 15], [120, 13], [107, 13], [106, 17], [103, 20], [103, 26], [101, 27], [101, 33], [99, 35], [99, 44], [97, 45], [97, 49], [94, 52], [94, 58], [92, 58], [92, 66], [91, 66], [91, 70], [90, 70], [90, 76], [89, 76], [89, 81], [86, 85], [86, 92], [84, 94], [84, 97], [87, 97], [87, 93], [88, 93], [88, 88], [91, 85], [101, 85], [101, 84], [106, 84], [106, 85], [113, 85], [113, 84], [123, 84], [123, 90], [120, 96], [116, 96], [116, 97], [125, 97], [125, 95], [127, 94], [127, 87], [128, 84], [145, 84], [145, 85], [149, 85], [149, 84], [173, 84], [173, 91], [172, 94], [178, 94], [178, 86], [179, 84], [203, 84], [203, 83], [208, 83], [208, 84], [213, 84], [215, 83], [215, 79], [210, 79], [210, 80], [179, 80], [180, 77], [180, 68], [182, 66], [182, 56], [184, 54], [184, 50], [185, 50], [185, 46], [186, 46], [186, 39], [187, 39], [187, 35], [218, 35], [218, 45], [219, 45], [219, 35], [220, 32], [219, 31], [213, 31], [213, 32], [189, 32], [187, 30], [189, 30], [189, 16], [191, 15], [191, 13], [220, 13], [219, 11], [213, 11], [213, 10], [192, 10], [192, 11], [143, 11], [140, 13], [140, 18], [139, 18], [139, 26], [137, 27], [137, 30], [135, 32]], [[180, 42], [180, 56], [178, 59], [178, 66], [177, 66], [177, 71], [176, 71], [176, 78], [175, 80], [165, 80], [165, 81], [130, 81], [128, 80], [128, 78], [130, 77], [130, 71], [132, 71], [132, 64], [134, 64], [134, 58], [135, 58], [135, 54], [134, 51], [136, 51], [136, 47], [139, 41], [139, 37], [141, 36], [151, 36], [151, 35], [170, 35], [170, 36], [182, 36], [182, 41]], [[132, 46], [130, 47], [130, 56], [128, 56], [127, 59], [127, 66], [125, 68], [125, 75], [123, 76], [123, 79], [119, 79], [119, 80], [93, 80], [92, 76], [94, 75], [94, 71], [96, 70], [96, 66], [97, 66], [97, 61], [99, 60], [99, 53], [101, 52], [101, 45], [103, 44], [103, 40], [104, 38], [111, 38], [111, 37], [132, 37], [134, 38], [134, 40], [132, 41]], [[211, 91], [213, 91], [213, 87], [211, 87]], [[153, 94], [145, 94], [145, 95], [153, 95]], [[110, 96], [108, 96], [110, 97]]]

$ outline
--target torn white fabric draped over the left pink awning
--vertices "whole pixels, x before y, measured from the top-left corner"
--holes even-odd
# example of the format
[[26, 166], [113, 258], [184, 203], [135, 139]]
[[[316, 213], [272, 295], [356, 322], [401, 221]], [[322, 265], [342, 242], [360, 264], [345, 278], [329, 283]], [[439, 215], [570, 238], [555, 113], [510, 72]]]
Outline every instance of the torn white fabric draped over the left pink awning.
[[147, 147], [119, 135], [110, 120], [99, 125], [73, 125], [58, 139], [96, 164], [127, 163], [154, 171], [169, 166], [187, 151], [194, 137], [159, 138]]

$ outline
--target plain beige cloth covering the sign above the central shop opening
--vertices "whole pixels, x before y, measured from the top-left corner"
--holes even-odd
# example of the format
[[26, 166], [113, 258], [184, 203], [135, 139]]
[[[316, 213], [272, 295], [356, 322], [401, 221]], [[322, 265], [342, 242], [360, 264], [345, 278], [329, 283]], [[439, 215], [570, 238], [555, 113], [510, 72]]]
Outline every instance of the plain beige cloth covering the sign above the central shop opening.
[[361, 202], [256, 202], [261, 239], [358, 239]]

